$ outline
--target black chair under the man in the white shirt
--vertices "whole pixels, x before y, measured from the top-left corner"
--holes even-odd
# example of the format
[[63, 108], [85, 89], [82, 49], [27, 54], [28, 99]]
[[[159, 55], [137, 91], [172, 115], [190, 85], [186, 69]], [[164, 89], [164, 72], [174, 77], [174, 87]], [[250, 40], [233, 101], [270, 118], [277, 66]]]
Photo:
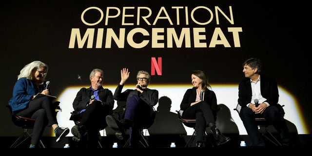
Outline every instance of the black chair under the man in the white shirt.
[[[280, 108], [284, 107], [284, 105], [280, 105], [278, 104]], [[240, 113], [240, 109], [241, 109], [241, 106], [239, 104], [236, 105], [236, 108], [234, 108], [234, 111], [236, 111], [239, 115]], [[282, 111], [282, 113], [284, 113]], [[285, 114], [285, 113], [284, 113]], [[261, 117], [261, 118], [254, 118], [257, 126], [258, 126], [258, 129], [261, 133], [261, 135], [265, 138], [267, 138], [270, 142], [272, 142], [274, 145], [276, 146], [281, 146], [282, 144], [276, 139], [276, 137], [273, 136], [273, 134], [269, 131], [269, 126], [271, 126], [272, 124], [270, 124], [265, 118]], [[261, 131], [261, 128], [264, 128], [264, 132]]]

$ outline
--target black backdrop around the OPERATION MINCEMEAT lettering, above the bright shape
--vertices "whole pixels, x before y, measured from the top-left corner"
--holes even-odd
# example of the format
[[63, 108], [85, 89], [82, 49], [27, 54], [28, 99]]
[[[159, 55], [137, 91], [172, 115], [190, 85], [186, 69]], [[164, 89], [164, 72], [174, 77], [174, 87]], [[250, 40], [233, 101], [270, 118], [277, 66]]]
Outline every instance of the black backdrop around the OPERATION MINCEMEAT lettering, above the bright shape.
[[[104, 15], [108, 6], [118, 7], [121, 11], [123, 6], [145, 6], [153, 11], [152, 19], [160, 7], [164, 6], [169, 15], [172, 15], [175, 24], [170, 25], [166, 20], [159, 20], [156, 25], [147, 25], [141, 20], [142, 24], [139, 26], [124, 26], [121, 25], [119, 16], [110, 20], [107, 26], [104, 25], [104, 19], [98, 25], [86, 26], [81, 22], [80, 15], [91, 6], [101, 8]], [[175, 10], [170, 9], [172, 6], [188, 6], [189, 14], [196, 6], [206, 6], [213, 12], [215, 6], [224, 11], [232, 6], [234, 24], [220, 18], [220, 24], [217, 25], [214, 17], [207, 25], [197, 25], [194, 22], [185, 25], [183, 18], [181, 24], [176, 25]], [[12, 97], [13, 86], [20, 70], [31, 61], [41, 60], [48, 64], [46, 79], [53, 83], [53, 93], [58, 95], [68, 86], [89, 85], [89, 73], [94, 68], [104, 70], [104, 84], [115, 85], [120, 80], [120, 69], [127, 67], [133, 73], [133, 79], [129, 79], [129, 83], [135, 83], [134, 75], [138, 70], [151, 71], [152, 57], [162, 58], [162, 75], [153, 76], [153, 84], [190, 84], [191, 70], [201, 69], [208, 73], [212, 84], [234, 84], [237, 87], [243, 78], [242, 61], [249, 57], [259, 58], [263, 62], [263, 74], [276, 78], [278, 84], [298, 100], [303, 117], [308, 123], [308, 133], [311, 131], [311, 83], [307, 70], [311, 67], [308, 57], [311, 37], [307, 24], [310, 17], [308, 5], [303, 0], [1, 0], [0, 8], [0, 78], [3, 83], [0, 98], [3, 106], [0, 109], [0, 136], [17, 136], [14, 130], [7, 131], [8, 127], [14, 129], [14, 125], [4, 106]], [[98, 19], [89, 18], [90, 21]], [[129, 22], [136, 23], [136, 20]], [[153, 20], [150, 22], [153, 23]], [[182, 44], [182, 48], [177, 48], [175, 44], [173, 48], [166, 48], [166, 43], [165, 48], [151, 48], [150, 41], [146, 47], [139, 49], [132, 48], [127, 43], [124, 48], [118, 48], [114, 43], [112, 48], [104, 48], [106, 28], [113, 28], [115, 31], [126, 28], [127, 32], [136, 27], [142, 27], [150, 34], [152, 28], [166, 30], [173, 27], [178, 32], [183, 27], [205, 27], [207, 46], [215, 28], [220, 27], [231, 47], [217, 45], [215, 48], [194, 48], [192, 42], [191, 48], [183, 48], [185, 44]], [[240, 47], [234, 47], [231, 33], [227, 32], [228, 27], [242, 27], [243, 32], [239, 33]], [[87, 28], [104, 28], [103, 47], [96, 49], [94, 43], [93, 48], [86, 48], [85, 44], [83, 48], [77, 48], [76, 45], [74, 49], [69, 49], [72, 28], [79, 28], [82, 35]]]

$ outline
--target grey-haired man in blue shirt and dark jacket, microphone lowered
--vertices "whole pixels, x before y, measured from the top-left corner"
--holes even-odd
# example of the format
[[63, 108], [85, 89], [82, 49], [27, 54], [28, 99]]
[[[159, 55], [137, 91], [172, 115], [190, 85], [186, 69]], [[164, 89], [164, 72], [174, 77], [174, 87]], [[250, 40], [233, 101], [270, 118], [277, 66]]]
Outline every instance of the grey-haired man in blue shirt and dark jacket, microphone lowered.
[[87, 148], [98, 147], [98, 131], [107, 126], [105, 117], [113, 113], [113, 93], [103, 88], [103, 79], [103, 70], [93, 69], [90, 87], [81, 88], [73, 102], [74, 111], [70, 120], [74, 120], [76, 125], [71, 129], [72, 139], [79, 142], [87, 135]]

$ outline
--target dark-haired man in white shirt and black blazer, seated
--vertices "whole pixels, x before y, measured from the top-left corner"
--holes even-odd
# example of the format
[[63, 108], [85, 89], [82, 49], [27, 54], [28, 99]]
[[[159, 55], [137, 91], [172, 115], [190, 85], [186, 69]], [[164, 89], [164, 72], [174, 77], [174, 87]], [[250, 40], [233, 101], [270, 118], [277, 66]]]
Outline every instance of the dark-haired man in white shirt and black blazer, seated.
[[[273, 78], [260, 75], [259, 59], [246, 59], [243, 68], [245, 79], [238, 86], [238, 104], [241, 105], [240, 118], [250, 138], [251, 146], [265, 146], [255, 124], [255, 117], [264, 117], [272, 123], [280, 134], [283, 145], [290, 145], [291, 135], [283, 117], [284, 111], [278, 104], [277, 82]], [[253, 104], [255, 99], [259, 105]]]

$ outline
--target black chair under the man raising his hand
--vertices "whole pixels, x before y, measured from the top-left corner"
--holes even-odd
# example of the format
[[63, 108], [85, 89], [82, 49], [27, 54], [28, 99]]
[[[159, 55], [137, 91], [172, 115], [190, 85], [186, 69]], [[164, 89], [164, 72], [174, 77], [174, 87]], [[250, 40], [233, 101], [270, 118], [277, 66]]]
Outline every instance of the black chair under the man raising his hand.
[[[149, 122], [147, 122], [147, 124], [141, 125], [141, 127], [139, 129], [139, 134], [140, 134], [139, 143], [144, 148], [148, 148], [150, 146], [149, 146], [147, 138], [144, 136], [143, 130], [147, 130], [148, 128], [150, 128], [153, 125], [157, 113], [158, 113], [158, 111], [156, 111], [155, 108], [153, 107], [153, 113], [152, 113], [151, 120]], [[124, 144], [123, 147], [124, 148], [130, 147], [130, 137], [128, 138], [128, 140], [126, 141], [126, 143]]]

